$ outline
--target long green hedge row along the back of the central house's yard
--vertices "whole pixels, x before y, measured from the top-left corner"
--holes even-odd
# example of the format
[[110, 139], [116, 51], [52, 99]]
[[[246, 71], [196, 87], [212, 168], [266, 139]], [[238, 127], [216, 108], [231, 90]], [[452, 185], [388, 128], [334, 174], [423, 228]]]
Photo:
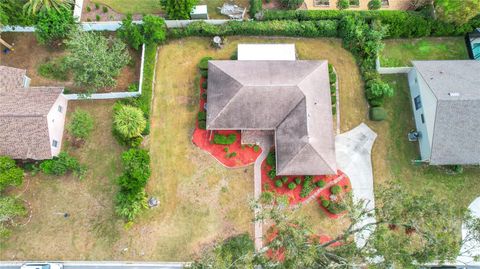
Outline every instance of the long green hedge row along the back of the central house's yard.
[[230, 35], [262, 35], [262, 36], [302, 36], [302, 37], [336, 37], [338, 21], [229, 21], [223, 25], [211, 25], [199, 21], [185, 28], [170, 29], [170, 37], [187, 36], [230, 36]]

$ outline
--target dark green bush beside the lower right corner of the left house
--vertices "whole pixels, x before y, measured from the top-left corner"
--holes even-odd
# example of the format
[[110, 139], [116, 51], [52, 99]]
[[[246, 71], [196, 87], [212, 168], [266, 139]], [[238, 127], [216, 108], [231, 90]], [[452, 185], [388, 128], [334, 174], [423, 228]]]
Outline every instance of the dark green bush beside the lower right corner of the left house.
[[61, 176], [73, 172], [76, 176], [82, 178], [86, 168], [71, 157], [66, 152], [60, 152], [57, 157], [51, 160], [45, 160], [40, 164], [40, 170], [47, 175]]

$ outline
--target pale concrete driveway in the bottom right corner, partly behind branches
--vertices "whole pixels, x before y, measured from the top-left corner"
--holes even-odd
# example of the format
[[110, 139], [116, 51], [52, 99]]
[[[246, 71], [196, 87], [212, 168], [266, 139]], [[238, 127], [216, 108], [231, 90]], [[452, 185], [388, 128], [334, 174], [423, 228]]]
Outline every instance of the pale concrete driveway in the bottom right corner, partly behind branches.
[[[470, 206], [468, 207], [472, 215], [476, 218], [480, 218], [480, 197], [475, 199]], [[465, 240], [471, 232], [465, 227], [462, 226], [462, 240]], [[460, 253], [461, 256], [457, 257], [457, 262], [459, 264], [467, 264], [471, 266], [480, 266], [480, 261], [475, 262], [475, 256], [480, 256], [480, 241], [471, 240], [467, 244], [463, 244]]]

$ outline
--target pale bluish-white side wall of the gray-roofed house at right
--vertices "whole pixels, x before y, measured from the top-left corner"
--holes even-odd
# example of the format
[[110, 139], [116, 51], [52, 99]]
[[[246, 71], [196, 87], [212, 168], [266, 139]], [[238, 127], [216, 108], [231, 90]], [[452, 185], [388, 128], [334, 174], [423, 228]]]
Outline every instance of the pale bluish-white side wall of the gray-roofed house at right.
[[[432, 149], [437, 99], [423, 78], [417, 73], [417, 70], [412, 69], [408, 73], [408, 83], [410, 85], [410, 101], [415, 118], [415, 126], [417, 132], [421, 134], [418, 139], [420, 155], [422, 160], [429, 161]], [[422, 103], [422, 107], [418, 110], [415, 109], [415, 97], [417, 96], [420, 96]], [[425, 123], [422, 123], [422, 114]]]

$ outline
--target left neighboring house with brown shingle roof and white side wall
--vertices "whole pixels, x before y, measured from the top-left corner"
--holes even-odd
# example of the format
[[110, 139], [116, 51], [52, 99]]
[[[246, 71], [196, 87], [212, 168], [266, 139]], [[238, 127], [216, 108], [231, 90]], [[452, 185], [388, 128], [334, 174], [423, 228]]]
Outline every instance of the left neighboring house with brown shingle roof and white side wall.
[[59, 87], [28, 87], [26, 70], [0, 66], [0, 155], [51, 159], [60, 153], [68, 101]]

